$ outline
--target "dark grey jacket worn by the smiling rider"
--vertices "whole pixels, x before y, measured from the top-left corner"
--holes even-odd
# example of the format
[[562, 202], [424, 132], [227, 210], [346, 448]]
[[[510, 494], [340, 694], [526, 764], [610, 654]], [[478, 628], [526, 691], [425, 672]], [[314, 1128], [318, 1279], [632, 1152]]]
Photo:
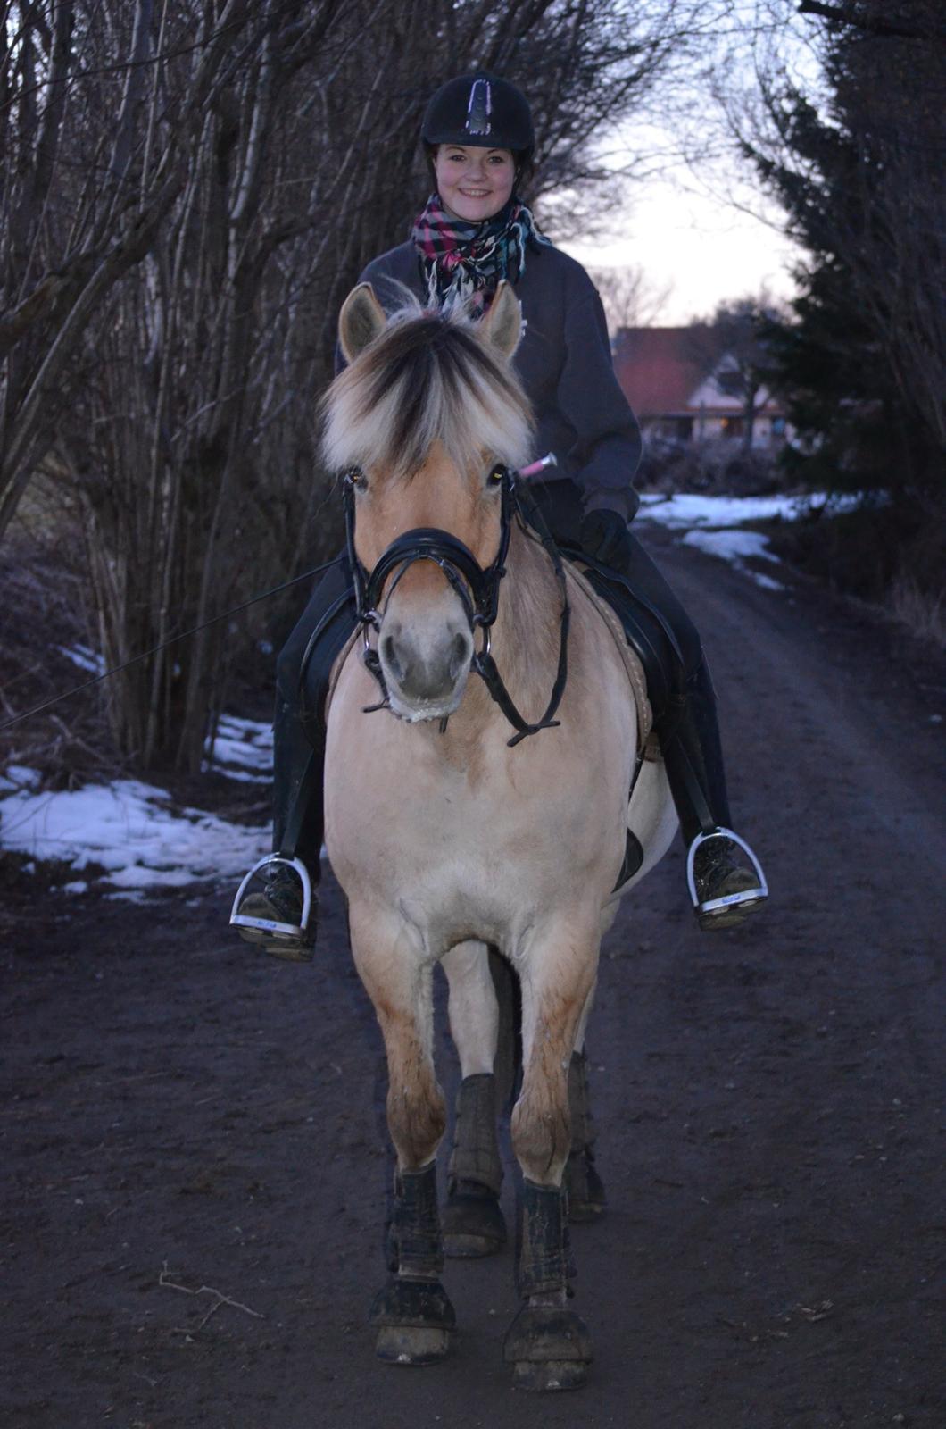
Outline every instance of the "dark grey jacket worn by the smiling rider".
[[[399, 306], [392, 279], [426, 300], [413, 243], [382, 253], [362, 273], [389, 312]], [[572, 477], [586, 510], [603, 507], [632, 520], [640, 504], [633, 487], [640, 427], [614, 376], [594, 284], [560, 249], [530, 247], [516, 297], [524, 334], [514, 366], [536, 414], [536, 456], [554, 452], [559, 459], [543, 479]]]

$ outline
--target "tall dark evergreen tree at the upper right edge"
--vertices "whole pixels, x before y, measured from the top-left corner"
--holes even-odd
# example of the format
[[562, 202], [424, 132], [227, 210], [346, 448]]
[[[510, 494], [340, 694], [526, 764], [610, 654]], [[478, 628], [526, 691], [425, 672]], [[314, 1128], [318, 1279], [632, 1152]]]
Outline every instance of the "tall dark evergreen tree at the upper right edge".
[[[746, 146], [809, 252], [769, 340], [802, 477], [883, 487], [927, 514], [946, 482], [946, 29], [929, 0], [820, 7], [829, 103], [769, 96], [780, 143]], [[842, 14], [843, 11], [843, 14]]]

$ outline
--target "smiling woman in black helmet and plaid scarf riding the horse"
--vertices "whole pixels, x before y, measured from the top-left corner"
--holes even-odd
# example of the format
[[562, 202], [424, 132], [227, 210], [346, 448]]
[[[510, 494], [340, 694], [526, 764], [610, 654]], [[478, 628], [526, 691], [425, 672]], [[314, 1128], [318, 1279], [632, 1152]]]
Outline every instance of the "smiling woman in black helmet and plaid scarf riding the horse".
[[[614, 377], [600, 299], [584, 269], [537, 231], [517, 197], [534, 147], [529, 104], [507, 80], [464, 74], [427, 104], [422, 140], [434, 193], [409, 242], [369, 263], [362, 282], [392, 310], [403, 306], [406, 286], [427, 306], [467, 302], [474, 313], [484, 310], [500, 279], [514, 286], [523, 312], [514, 366], [534, 409], [536, 449], [557, 457], [557, 467], [530, 487], [556, 539], [606, 567], [596, 589], [622, 616], [633, 606], [644, 643], [659, 646], [673, 667], [656, 732], [692, 853], [700, 926], [727, 927], [760, 906], [765, 879], [745, 842], [730, 837], [716, 703], [699, 634], [629, 529], [639, 506], [632, 482], [640, 430]], [[323, 837], [322, 706], [329, 672], [354, 623], [340, 559], [277, 662], [273, 850], [302, 859], [313, 882]], [[320, 690], [310, 712], [299, 693], [303, 664], [309, 690]], [[284, 863], [264, 866], [264, 892], [244, 896], [240, 913], [297, 927], [299, 876]], [[307, 959], [314, 926], [313, 909], [304, 932], [240, 932], [277, 956]]]

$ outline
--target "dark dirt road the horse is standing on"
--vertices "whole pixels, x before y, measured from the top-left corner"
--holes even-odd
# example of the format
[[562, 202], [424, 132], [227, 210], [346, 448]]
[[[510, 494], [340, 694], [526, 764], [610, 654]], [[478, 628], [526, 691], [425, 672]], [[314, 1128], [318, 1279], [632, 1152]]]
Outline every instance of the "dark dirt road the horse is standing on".
[[674, 850], [607, 939], [610, 1213], [573, 1232], [587, 1388], [509, 1388], [509, 1253], [447, 1266], [446, 1365], [373, 1359], [383, 1072], [336, 893], [312, 969], [254, 960], [223, 892], [40, 915], [13, 893], [7, 1429], [946, 1426], [936, 692], [812, 587], [666, 564], [773, 896], [756, 925], [700, 935]]

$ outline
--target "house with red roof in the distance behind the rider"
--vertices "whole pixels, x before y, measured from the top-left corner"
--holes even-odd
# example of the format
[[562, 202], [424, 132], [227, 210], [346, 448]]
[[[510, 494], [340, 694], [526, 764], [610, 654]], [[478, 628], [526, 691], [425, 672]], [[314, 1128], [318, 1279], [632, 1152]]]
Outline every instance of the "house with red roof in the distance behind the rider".
[[[644, 432], [676, 442], [745, 440], [747, 397], [739, 362], [709, 326], [620, 327], [614, 372]], [[785, 406], [765, 386], [752, 394], [752, 446], [787, 436]]]

